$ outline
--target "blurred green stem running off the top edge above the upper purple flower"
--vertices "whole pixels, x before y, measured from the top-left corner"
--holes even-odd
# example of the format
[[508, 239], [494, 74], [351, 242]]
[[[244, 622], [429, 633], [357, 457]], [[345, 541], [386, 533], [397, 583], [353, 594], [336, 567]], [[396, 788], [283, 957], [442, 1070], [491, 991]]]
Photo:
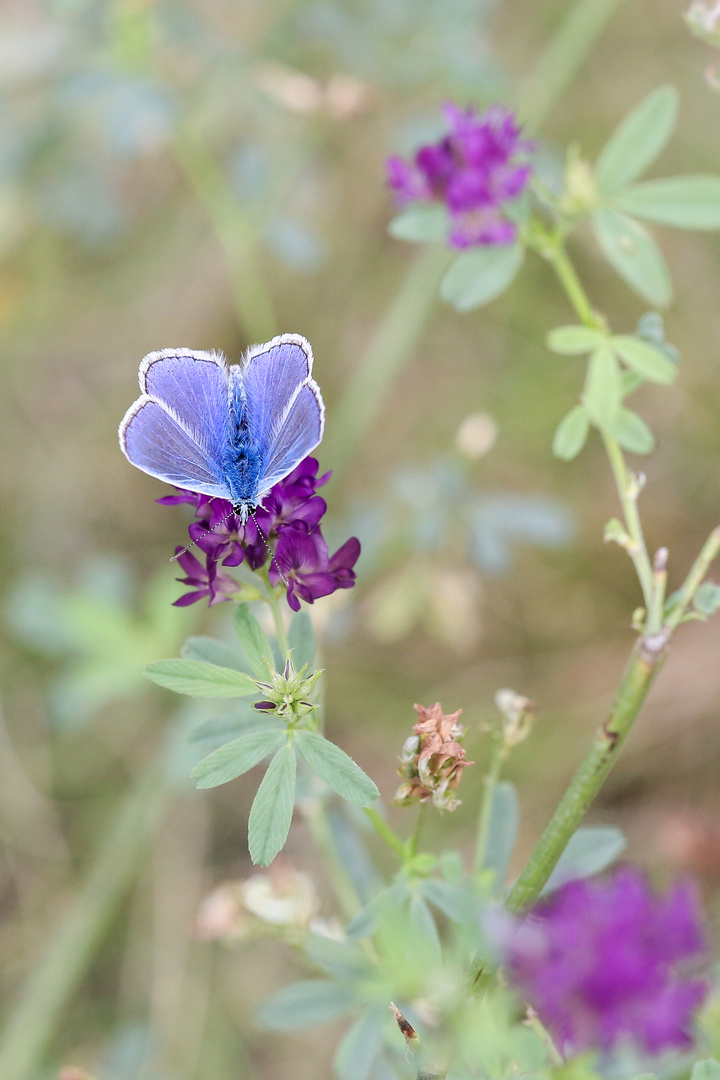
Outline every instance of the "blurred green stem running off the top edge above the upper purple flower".
[[623, 0], [576, 0], [520, 84], [518, 111], [532, 131], [545, 121]]

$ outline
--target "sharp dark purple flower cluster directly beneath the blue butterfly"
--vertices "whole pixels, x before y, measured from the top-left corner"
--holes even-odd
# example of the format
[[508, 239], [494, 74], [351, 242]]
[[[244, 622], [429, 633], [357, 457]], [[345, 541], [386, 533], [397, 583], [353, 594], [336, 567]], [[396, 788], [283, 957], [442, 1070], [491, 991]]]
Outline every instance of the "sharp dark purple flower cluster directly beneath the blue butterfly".
[[191, 591], [180, 596], [176, 606], [187, 607], [205, 596], [210, 606], [230, 599], [241, 588], [240, 582], [222, 573], [220, 567], [246, 563], [257, 570], [270, 559], [270, 551], [273, 553], [268, 570], [270, 584], [277, 585], [283, 578], [287, 581], [287, 603], [294, 611], [300, 610], [301, 599], [312, 604], [336, 589], [352, 589], [359, 540], [351, 537], [330, 555], [320, 527], [327, 503], [316, 490], [329, 476], [325, 473], [318, 477], [317, 461], [305, 458], [275, 484], [262, 500], [262, 507], [244, 525], [225, 499], [184, 489], [158, 499], [166, 507], [187, 502], [195, 508], [195, 521], [188, 531], [205, 556], [204, 563], [193, 551], [179, 556], [186, 577], [178, 581]]

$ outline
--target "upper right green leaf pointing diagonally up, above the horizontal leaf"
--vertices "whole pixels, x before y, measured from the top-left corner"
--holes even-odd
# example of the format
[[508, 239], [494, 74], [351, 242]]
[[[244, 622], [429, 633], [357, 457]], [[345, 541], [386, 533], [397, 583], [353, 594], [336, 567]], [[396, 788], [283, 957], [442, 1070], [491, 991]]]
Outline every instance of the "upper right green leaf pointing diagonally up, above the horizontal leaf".
[[653, 163], [673, 134], [677, 116], [677, 90], [661, 86], [621, 120], [595, 166], [601, 194], [625, 187]]

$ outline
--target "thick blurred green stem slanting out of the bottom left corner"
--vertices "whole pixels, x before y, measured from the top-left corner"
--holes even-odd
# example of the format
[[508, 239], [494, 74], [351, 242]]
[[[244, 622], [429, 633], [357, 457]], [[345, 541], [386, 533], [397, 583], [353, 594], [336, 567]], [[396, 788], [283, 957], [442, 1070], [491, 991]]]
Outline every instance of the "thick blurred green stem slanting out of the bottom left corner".
[[167, 797], [152, 768], [137, 783], [105, 837], [85, 883], [62, 917], [0, 1034], [0, 1077], [30, 1080], [100, 936], [137, 873]]

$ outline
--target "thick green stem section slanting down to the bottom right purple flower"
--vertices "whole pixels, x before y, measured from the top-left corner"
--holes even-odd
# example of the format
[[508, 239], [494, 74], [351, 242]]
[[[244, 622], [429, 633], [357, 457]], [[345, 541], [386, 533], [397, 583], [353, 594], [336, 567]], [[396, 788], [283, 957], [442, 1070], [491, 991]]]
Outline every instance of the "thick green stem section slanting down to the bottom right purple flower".
[[664, 645], [665, 642], [653, 643], [648, 638], [640, 638], [635, 646], [608, 719], [599, 728], [589, 752], [513, 886], [506, 902], [510, 910], [519, 912], [534, 903], [540, 895], [568, 840], [615, 762], [662, 666]]

